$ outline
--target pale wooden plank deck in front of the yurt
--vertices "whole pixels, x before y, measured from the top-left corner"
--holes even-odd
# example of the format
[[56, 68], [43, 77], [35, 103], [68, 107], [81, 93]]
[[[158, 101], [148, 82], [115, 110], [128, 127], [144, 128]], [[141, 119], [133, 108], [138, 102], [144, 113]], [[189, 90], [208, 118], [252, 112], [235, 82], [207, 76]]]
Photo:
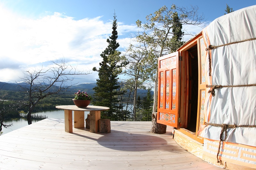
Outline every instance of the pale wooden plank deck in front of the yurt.
[[0, 169], [220, 170], [182, 149], [151, 122], [111, 122], [111, 133], [64, 131], [64, 120], [45, 119], [0, 136]]

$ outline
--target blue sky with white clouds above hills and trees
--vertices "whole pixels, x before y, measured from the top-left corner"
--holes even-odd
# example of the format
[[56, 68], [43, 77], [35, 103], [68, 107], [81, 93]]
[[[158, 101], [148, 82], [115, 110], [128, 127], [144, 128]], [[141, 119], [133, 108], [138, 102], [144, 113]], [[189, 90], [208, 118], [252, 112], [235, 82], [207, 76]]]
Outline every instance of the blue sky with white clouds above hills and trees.
[[[22, 71], [65, 58], [78, 70], [91, 73], [76, 76], [72, 84], [95, 83], [98, 72], [92, 68], [99, 68], [102, 61], [114, 13], [119, 50], [124, 51], [138, 31], [138, 19], [144, 23], [147, 15], [172, 4], [198, 6], [207, 26], [226, 13], [226, 4], [236, 11], [255, 5], [256, 0], [0, 0], [0, 82], [19, 82]], [[202, 27], [186, 29], [195, 35]]]

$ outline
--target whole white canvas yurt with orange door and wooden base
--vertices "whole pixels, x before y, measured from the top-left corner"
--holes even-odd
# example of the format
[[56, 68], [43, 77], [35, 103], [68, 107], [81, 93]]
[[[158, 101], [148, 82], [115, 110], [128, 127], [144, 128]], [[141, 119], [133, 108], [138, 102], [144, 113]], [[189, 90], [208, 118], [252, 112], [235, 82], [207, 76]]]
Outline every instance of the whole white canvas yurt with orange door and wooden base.
[[256, 168], [256, 5], [215, 19], [158, 59], [157, 123], [205, 161]]

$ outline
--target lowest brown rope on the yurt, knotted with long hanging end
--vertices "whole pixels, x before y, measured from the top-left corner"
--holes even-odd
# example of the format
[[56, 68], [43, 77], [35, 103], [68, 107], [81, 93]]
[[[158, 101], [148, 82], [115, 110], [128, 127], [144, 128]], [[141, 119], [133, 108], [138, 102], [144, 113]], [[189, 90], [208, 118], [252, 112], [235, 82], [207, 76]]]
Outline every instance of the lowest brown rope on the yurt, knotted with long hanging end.
[[[227, 139], [227, 129], [228, 128], [237, 128], [237, 127], [244, 127], [244, 128], [256, 128], [256, 125], [229, 125], [229, 124], [216, 124], [216, 123], [206, 123], [204, 122], [205, 125], [211, 125], [215, 127], [221, 127], [220, 131], [220, 143], [219, 143], [219, 148], [217, 152], [217, 163], [219, 163], [219, 154], [220, 154], [220, 144], [221, 142], [225, 141]], [[222, 139], [222, 136], [224, 134], [224, 139]]]

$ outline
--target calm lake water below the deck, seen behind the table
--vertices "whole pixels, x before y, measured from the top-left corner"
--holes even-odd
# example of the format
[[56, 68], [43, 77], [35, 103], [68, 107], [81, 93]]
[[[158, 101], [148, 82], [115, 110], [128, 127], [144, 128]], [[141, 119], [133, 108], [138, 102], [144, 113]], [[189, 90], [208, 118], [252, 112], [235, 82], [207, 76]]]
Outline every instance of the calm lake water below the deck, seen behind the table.
[[[87, 114], [90, 112], [84, 112], [84, 118], [87, 118]], [[64, 119], [64, 110], [52, 110], [52, 111], [44, 111], [44, 112], [36, 112], [35, 114], [38, 115], [46, 115], [48, 118], [56, 118], [56, 119]], [[72, 114], [74, 117], [74, 114]], [[32, 123], [38, 122], [40, 120], [32, 120]], [[10, 127], [4, 128], [2, 129], [3, 135], [11, 132], [13, 130], [22, 128], [24, 126], [28, 125], [28, 121], [25, 119], [17, 119], [17, 120], [8, 120], [8, 121], [4, 121], [5, 124], [9, 125], [9, 124], [13, 124]]]

